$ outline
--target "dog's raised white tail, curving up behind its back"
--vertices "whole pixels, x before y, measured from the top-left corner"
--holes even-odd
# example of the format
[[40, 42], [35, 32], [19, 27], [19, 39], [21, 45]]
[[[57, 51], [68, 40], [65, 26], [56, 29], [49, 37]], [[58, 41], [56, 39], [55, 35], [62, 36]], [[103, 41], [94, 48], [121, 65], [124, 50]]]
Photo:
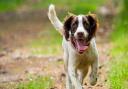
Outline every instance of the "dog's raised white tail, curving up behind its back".
[[57, 31], [59, 31], [59, 33], [61, 35], [63, 35], [63, 24], [62, 22], [58, 19], [57, 15], [56, 15], [56, 11], [55, 11], [55, 7], [53, 4], [51, 4], [49, 6], [49, 11], [48, 11], [48, 18], [50, 19], [51, 23], [53, 24], [53, 26], [55, 27], [55, 29]]

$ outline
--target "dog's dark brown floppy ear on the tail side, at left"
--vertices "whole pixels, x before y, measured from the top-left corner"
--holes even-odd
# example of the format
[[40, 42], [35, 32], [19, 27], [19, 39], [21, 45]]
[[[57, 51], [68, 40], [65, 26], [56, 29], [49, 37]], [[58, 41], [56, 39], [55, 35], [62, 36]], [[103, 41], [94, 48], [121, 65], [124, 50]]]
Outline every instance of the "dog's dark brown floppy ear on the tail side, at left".
[[68, 40], [69, 39], [69, 31], [71, 30], [71, 24], [72, 21], [74, 19], [74, 16], [69, 16], [66, 17], [65, 22], [64, 22], [64, 35], [65, 35], [65, 39]]

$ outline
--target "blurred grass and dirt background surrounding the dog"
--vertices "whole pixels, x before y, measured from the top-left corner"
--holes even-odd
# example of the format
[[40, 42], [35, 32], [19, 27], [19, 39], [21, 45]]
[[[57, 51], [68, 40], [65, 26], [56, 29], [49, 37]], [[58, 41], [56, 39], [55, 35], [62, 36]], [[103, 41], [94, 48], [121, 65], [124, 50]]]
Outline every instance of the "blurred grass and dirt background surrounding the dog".
[[128, 88], [128, 0], [0, 0], [0, 89], [65, 89], [62, 37], [48, 17], [56, 6], [68, 12], [94, 13], [99, 20], [99, 79], [86, 89]]

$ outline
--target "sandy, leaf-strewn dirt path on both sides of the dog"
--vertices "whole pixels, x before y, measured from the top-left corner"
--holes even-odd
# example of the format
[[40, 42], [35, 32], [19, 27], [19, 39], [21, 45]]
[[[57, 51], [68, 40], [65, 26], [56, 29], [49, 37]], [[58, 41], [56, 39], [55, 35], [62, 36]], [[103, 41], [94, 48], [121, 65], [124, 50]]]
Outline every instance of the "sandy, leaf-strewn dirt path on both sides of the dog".
[[[109, 48], [109, 45], [98, 44], [98, 48], [100, 52], [98, 83], [97, 85], [92, 87], [88, 84], [86, 79], [85, 89], [108, 89], [106, 86], [106, 82], [108, 72], [107, 61], [109, 59], [107, 50]], [[2, 87], [2, 89], [9, 89], [7, 86], [5, 87], [4, 84], [25, 81], [27, 79], [27, 75], [29, 74], [37, 76], [50, 75], [55, 80], [54, 89], [64, 89], [65, 73], [61, 56], [28, 56], [26, 58], [22, 58], [22, 56], [19, 56], [18, 58], [14, 58], [13, 54], [6, 54], [0, 57], [0, 87]]]

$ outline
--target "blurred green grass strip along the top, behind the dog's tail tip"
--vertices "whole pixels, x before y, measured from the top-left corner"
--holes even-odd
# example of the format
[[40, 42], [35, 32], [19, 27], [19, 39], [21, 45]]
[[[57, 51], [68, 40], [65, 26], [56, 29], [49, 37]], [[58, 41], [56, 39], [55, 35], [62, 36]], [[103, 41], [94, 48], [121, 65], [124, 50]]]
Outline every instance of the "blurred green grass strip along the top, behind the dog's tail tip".
[[87, 14], [89, 11], [96, 11], [104, 2], [103, 0], [0, 0], [0, 12], [15, 11], [22, 5], [31, 9], [47, 9], [53, 3], [58, 8], [67, 9], [76, 14]]

